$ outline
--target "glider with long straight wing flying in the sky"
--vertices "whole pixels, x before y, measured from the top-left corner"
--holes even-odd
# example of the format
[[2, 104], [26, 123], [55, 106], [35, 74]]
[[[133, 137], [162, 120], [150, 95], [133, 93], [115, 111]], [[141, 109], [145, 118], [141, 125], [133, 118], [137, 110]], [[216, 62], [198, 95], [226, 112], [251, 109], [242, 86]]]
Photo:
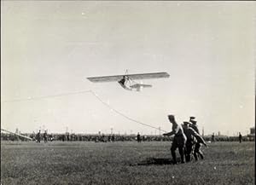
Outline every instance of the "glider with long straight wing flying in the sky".
[[[126, 71], [127, 72], [127, 71]], [[143, 88], [152, 87], [151, 84], [136, 83], [134, 79], [149, 79], [149, 78], [169, 78], [170, 75], [167, 72], [152, 72], [152, 73], [138, 73], [138, 74], [126, 74], [103, 76], [103, 77], [90, 77], [87, 78], [90, 82], [118, 82], [125, 90], [137, 90], [140, 91]]]

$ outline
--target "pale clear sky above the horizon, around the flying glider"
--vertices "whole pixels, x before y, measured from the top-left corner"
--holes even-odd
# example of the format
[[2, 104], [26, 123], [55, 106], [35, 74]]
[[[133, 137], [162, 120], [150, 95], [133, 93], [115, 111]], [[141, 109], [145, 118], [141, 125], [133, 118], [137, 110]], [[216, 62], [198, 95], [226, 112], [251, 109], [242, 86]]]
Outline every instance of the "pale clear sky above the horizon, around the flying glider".
[[[1, 127], [159, 134], [195, 116], [205, 134], [254, 122], [255, 2], [1, 1]], [[168, 72], [142, 92], [87, 77]], [[28, 101], [27, 98], [32, 98]], [[12, 101], [25, 99], [24, 101]]]

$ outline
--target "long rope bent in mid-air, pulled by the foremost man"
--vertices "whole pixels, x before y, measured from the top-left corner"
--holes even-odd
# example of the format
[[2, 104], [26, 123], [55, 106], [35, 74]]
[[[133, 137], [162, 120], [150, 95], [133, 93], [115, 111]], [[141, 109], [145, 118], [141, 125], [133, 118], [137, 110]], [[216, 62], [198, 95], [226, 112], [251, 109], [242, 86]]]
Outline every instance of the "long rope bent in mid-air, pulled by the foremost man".
[[136, 122], [137, 124], [142, 124], [144, 126], [148, 126], [155, 130], [160, 130], [160, 131], [166, 132], [166, 130], [161, 130], [160, 128], [154, 127], [149, 124], [144, 124], [143, 122], [137, 121], [136, 119], [131, 119], [130, 117], [126, 116], [124, 113], [121, 113], [118, 110], [116, 110], [115, 108], [111, 107], [105, 101], [102, 101], [102, 98], [100, 98], [99, 95], [96, 95], [96, 93], [92, 90], [80, 90], [80, 91], [76, 91], [76, 92], [61, 93], [61, 94], [57, 94], [57, 95], [44, 95], [44, 96], [38, 96], [38, 97], [22, 98], [22, 99], [15, 99], [15, 100], [9, 100], [9, 101], [1, 101], [1, 103], [16, 102], [16, 101], [36, 101], [36, 100], [41, 100], [41, 99], [55, 98], [55, 97], [67, 96], [67, 95], [79, 95], [79, 94], [84, 94], [84, 93], [91, 93], [92, 95], [94, 95], [96, 97], [96, 99], [98, 101], [101, 101], [103, 105], [108, 107], [110, 110], [113, 110], [115, 113], [119, 114], [120, 116], [124, 117], [125, 119], [129, 119], [133, 122]]

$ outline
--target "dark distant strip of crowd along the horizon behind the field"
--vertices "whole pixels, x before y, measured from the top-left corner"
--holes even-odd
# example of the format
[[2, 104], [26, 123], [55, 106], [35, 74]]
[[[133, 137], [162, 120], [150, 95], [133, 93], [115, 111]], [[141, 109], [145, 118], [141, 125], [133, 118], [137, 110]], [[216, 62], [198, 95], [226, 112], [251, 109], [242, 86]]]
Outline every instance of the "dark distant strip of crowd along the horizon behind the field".
[[[31, 137], [36, 141], [36, 134], [22, 134]], [[206, 142], [212, 142], [212, 136], [203, 136]], [[167, 136], [140, 136], [141, 142], [168, 142], [173, 137]], [[38, 140], [38, 138], [37, 138]], [[40, 135], [41, 142], [44, 142], [44, 135]], [[1, 141], [29, 141], [24, 137], [15, 136], [13, 134], [1, 133]], [[137, 141], [136, 135], [86, 135], [86, 134], [48, 134], [47, 142], [133, 142]], [[215, 136], [214, 142], [238, 142], [238, 136]], [[242, 136], [243, 142], [254, 142], [255, 136]]]

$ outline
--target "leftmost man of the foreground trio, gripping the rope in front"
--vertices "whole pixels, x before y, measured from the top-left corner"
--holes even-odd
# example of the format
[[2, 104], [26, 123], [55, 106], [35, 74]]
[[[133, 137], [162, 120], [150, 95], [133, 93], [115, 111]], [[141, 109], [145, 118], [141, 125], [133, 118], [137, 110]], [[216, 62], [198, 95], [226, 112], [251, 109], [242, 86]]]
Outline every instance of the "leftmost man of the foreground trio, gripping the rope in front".
[[177, 159], [176, 159], [176, 153], [175, 150], [178, 148], [178, 152], [181, 157], [181, 162], [184, 163], [184, 147], [186, 143], [186, 136], [183, 133], [183, 127], [175, 121], [174, 115], [168, 115], [169, 121], [172, 123], [172, 131], [163, 134], [163, 136], [172, 136], [174, 135], [173, 142], [172, 142], [172, 147], [171, 147], [171, 153], [172, 153], [172, 159], [173, 159], [173, 164], [177, 164]]

